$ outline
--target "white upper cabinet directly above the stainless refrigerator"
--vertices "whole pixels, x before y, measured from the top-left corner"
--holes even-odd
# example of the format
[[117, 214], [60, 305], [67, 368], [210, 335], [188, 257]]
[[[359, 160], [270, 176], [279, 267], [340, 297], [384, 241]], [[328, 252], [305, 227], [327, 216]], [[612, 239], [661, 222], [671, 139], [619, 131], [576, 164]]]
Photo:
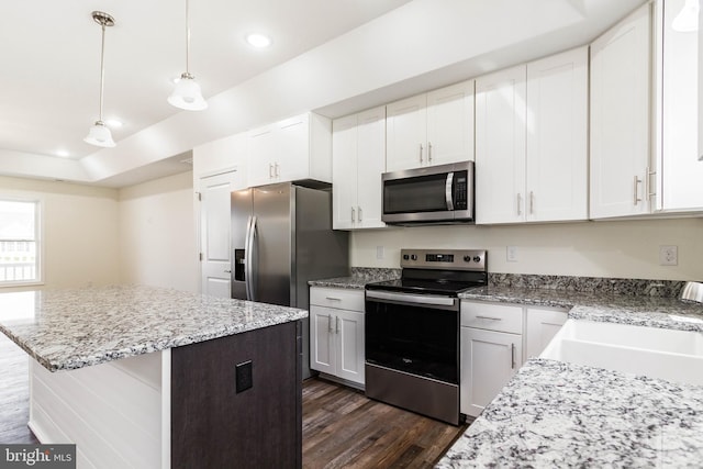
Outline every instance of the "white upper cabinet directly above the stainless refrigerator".
[[248, 183], [315, 179], [332, 182], [332, 123], [301, 114], [248, 133]]

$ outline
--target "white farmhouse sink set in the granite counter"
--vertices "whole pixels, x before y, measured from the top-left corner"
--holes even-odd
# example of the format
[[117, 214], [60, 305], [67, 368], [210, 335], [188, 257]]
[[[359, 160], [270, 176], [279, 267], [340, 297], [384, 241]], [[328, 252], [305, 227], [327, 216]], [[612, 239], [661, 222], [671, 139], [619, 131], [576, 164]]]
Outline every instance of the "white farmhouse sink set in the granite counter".
[[568, 320], [539, 356], [703, 384], [703, 333]]

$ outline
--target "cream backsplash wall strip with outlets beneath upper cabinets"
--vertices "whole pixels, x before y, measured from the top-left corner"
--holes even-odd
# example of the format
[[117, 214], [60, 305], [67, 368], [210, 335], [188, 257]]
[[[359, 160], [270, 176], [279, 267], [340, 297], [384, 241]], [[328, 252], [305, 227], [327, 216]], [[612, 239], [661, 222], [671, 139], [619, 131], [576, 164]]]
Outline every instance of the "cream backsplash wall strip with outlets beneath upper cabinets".
[[[659, 265], [660, 245], [678, 246], [678, 266]], [[516, 246], [516, 263], [506, 261], [507, 246]], [[350, 264], [397, 268], [401, 248], [422, 247], [487, 248], [492, 272], [703, 281], [703, 219], [355, 232]]]

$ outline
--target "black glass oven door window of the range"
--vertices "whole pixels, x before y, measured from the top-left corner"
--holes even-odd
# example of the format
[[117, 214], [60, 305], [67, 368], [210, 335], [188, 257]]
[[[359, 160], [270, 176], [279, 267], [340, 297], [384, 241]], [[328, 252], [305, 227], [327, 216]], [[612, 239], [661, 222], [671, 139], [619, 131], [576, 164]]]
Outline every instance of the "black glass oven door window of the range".
[[459, 313], [366, 302], [366, 360], [458, 384]]

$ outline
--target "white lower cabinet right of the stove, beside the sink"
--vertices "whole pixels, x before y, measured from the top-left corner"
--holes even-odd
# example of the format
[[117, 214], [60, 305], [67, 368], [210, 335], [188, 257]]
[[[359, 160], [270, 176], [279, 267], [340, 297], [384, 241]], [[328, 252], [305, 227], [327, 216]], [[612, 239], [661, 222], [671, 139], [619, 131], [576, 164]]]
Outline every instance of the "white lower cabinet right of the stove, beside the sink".
[[565, 309], [462, 301], [459, 411], [478, 416], [566, 320]]

